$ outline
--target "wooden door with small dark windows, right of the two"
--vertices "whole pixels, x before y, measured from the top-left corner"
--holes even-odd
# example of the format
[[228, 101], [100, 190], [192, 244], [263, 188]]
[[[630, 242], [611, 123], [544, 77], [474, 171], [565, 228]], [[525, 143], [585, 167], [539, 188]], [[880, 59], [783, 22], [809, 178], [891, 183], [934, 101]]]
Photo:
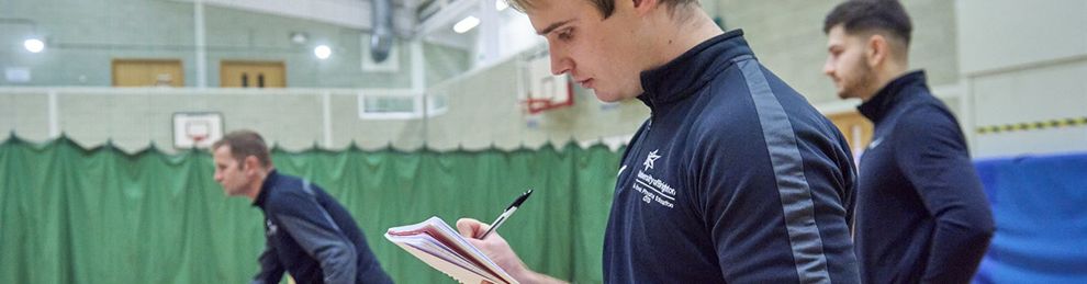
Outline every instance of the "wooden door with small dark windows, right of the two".
[[285, 88], [287, 70], [282, 61], [233, 61], [220, 66], [223, 88]]

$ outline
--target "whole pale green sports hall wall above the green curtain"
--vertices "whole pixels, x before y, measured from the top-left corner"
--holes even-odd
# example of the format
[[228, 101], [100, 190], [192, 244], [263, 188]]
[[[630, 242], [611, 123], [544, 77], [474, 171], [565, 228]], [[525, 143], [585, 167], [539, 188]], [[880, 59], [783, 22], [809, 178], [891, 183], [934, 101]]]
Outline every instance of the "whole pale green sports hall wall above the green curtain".
[[[838, 1], [721, 0], [704, 5], [711, 14], [721, 15], [729, 29], [744, 29], [762, 63], [813, 104], [828, 105], [841, 102], [834, 95], [830, 80], [821, 73], [826, 58], [822, 20], [836, 3]], [[1084, 25], [1079, 24], [1083, 19], [1058, 16], [1076, 11], [1083, 2], [1061, 0], [1023, 8], [1010, 0], [986, 3], [989, 2], [905, 1], [915, 22], [910, 64], [914, 68], [926, 69], [930, 83], [949, 92], [942, 94], [954, 92], [955, 98], [946, 102], [960, 115], [967, 136], [974, 135], [971, 132], [974, 126], [1085, 115], [1082, 111], [1085, 109], [1076, 106], [1083, 105], [1079, 102], [1085, 98], [1084, 80], [1077, 78], [1085, 78], [1085, 49], [1079, 47], [1087, 43], [1084, 39], [1087, 37], [1071, 36], [1084, 34]], [[1031, 16], [1009, 21], [1000, 18], [1005, 12], [994, 12], [1018, 9], [1032, 11], [1028, 14]], [[400, 73], [363, 73], [359, 67], [361, 32], [214, 7], [206, 10], [209, 83], [212, 86], [217, 84], [220, 58], [281, 58], [289, 68], [290, 87], [411, 86], [407, 45], [399, 45]], [[22, 48], [22, 39], [31, 30], [11, 21], [14, 18], [34, 20], [36, 31], [49, 36], [51, 46], [45, 53], [31, 55]], [[33, 68], [32, 86], [77, 84], [80, 75], [87, 75], [87, 84], [108, 86], [109, 64], [114, 57], [181, 58], [186, 64], [187, 83], [195, 83], [190, 50], [191, 3], [0, 0], [0, 19], [7, 19], [0, 20], [0, 68]], [[1058, 33], [1033, 33], [1045, 27], [1056, 29], [1054, 31]], [[293, 46], [288, 41], [287, 35], [292, 31], [310, 33], [312, 44], [333, 41], [336, 55], [328, 61], [317, 61], [310, 47]], [[999, 35], [1000, 31], [1033, 37], [991, 35]], [[515, 148], [522, 144], [531, 147], [571, 138], [623, 137], [630, 135], [648, 116], [648, 109], [638, 101], [602, 107], [591, 92], [578, 89], [573, 107], [529, 117], [518, 105], [514, 61], [464, 73], [471, 65], [469, 53], [429, 44], [424, 45], [423, 50], [427, 91], [448, 95], [449, 111], [428, 120], [360, 120], [356, 91], [337, 90], [329, 98], [332, 147], [346, 147], [351, 141], [365, 148], [393, 145], [412, 149], [424, 143], [437, 149], [491, 145]], [[450, 78], [456, 79], [448, 80]], [[0, 84], [10, 87], [2, 78]], [[318, 92], [192, 94], [152, 90], [121, 95], [96, 92], [101, 91], [68, 90], [57, 95], [60, 130], [88, 145], [107, 139], [128, 149], [146, 146], [150, 140], [160, 146], [168, 145], [169, 117], [180, 111], [222, 112], [226, 115], [227, 129], [255, 128], [291, 149], [325, 144], [323, 99]], [[46, 139], [49, 135], [48, 106], [45, 91], [0, 90], [0, 130]], [[537, 121], [538, 126], [529, 127], [529, 121]], [[1082, 145], [1072, 141], [1087, 137], [1082, 135], [1083, 129], [1021, 133], [1015, 137], [989, 135], [978, 137], [980, 143], [973, 146], [983, 156], [1032, 152], [1040, 148], [1083, 149], [1069, 146]], [[1042, 140], [1061, 145], [1040, 143]], [[1021, 145], [1036, 146], [1026, 149], [1019, 147]]]

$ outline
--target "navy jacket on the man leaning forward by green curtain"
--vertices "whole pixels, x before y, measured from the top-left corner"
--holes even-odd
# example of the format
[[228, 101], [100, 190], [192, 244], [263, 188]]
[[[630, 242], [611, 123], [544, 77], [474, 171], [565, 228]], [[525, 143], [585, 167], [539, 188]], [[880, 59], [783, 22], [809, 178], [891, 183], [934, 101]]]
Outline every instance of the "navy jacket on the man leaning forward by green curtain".
[[316, 184], [276, 170], [254, 201], [265, 212], [267, 246], [254, 283], [392, 283], [351, 214]]

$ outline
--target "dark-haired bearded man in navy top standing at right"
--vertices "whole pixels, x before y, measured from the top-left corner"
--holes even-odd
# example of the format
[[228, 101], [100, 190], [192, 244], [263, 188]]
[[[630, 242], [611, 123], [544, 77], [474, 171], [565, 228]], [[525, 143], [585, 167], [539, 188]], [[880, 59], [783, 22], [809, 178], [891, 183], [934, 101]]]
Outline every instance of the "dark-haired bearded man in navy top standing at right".
[[827, 15], [825, 71], [875, 123], [861, 156], [856, 257], [865, 283], [967, 283], [993, 214], [959, 122], [907, 70], [911, 31], [897, 1], [850, 1]]

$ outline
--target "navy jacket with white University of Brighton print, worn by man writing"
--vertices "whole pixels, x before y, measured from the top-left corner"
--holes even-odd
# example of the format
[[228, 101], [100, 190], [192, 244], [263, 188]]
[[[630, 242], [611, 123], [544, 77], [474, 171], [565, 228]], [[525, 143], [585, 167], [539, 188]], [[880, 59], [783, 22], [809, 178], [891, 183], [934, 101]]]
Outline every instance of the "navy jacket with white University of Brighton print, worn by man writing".
[[742, 34], [642, 72], [652, 115], [619, 169], [605, 282], [859, 282], [845, 139]]

